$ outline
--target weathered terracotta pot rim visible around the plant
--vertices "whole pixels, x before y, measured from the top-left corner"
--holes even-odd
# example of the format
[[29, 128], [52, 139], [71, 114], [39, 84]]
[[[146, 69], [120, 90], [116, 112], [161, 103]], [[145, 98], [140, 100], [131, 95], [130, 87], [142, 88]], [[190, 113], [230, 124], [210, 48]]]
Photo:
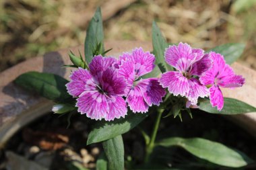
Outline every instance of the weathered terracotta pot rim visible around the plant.
[[[150, 42], [115, 41], [106, 42], [105, 46], [106, 49], [113, 48], [108, 53], [108, 55], [112, 56], [119, 56], [120, 52], [130, 51], [132, 48], [139, 46], [144, 50], [152, 50]], [[50, 112], [53, 105], [53, 102], [14, 85], [13, 80], [27, 71], [55, 73], [69, 79], [70, 69], [61, 69], [61, 67], [63, 65], [71, 65], [68, 52], [72, 50], [78, 54], [78, 49], [83, 51], [83, 46], [37, 56], [0, 73], [0, 147], [3, 147], [5, 142], [22, 126]], [[224, 95], [240, 99], [256, 107], [256, 72], [243, 67], [237, 62], [232, 67], [236, 73], [245, 77], [246, 84], [239, 89], [224, 89]], [[256, 136], [256, 114], [249, 113], [228, 116], [228, 118]]]

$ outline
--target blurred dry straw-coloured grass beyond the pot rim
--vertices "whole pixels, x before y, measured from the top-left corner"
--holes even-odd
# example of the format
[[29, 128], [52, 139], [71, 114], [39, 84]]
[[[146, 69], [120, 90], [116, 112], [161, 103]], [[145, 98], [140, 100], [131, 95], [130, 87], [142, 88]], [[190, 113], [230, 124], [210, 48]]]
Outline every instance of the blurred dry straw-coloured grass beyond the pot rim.
[[151, 42], [155, 19], [168, 42], [204, 49], [245, 42], [240, 62], [256, 69], [255, 0], [1, 0], [0, 71], [83, 44], [97, 6], [102, 7], [105, 40]]

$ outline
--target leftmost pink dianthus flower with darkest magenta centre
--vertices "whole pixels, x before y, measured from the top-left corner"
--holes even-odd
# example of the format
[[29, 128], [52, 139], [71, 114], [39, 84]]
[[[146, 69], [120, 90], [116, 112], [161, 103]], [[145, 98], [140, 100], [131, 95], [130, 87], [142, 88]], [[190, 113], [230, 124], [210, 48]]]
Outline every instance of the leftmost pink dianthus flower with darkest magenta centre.
[[78, 112], [95, 120], [114, 120], [127, 114], [123, 95], [127, 83], [118, 76], [115, 58], [94, 56], [87, 69], [79, 68], [70, 76], [67, 91], [77, 97]]

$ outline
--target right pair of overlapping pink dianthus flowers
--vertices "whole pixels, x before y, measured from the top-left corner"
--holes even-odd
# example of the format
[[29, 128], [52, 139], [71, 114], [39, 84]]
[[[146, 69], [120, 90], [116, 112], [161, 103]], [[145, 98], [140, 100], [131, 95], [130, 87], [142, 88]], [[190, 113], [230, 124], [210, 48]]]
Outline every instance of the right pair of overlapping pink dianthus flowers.
[[176, 71], [164, 73], [160, 84], [168, 87], [173, 95], [185, 96], [187, 108], [197, 107], [199, 97], [210, 95], [212, 106], [222, 110], [224, 99], [220, 87], [241, 87], [245, 83], [241, 75], [234, 74], [221, 54], [204, 54], [201, 49], [179, 43], [178, 46], [169, 46], [164, 56]]

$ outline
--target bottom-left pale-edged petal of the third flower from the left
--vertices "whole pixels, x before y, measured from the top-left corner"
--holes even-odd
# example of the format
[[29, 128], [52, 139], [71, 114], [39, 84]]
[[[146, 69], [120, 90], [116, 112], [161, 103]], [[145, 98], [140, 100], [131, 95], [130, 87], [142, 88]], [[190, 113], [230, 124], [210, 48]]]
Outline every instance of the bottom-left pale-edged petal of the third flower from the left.
[[159, 82], [162, 87], [168, 87], [168, 91], [173, 95], [185, 96], [189, 93], [189, 83], [187, 78], [177, 71], [168, 71], [162, 74]]

